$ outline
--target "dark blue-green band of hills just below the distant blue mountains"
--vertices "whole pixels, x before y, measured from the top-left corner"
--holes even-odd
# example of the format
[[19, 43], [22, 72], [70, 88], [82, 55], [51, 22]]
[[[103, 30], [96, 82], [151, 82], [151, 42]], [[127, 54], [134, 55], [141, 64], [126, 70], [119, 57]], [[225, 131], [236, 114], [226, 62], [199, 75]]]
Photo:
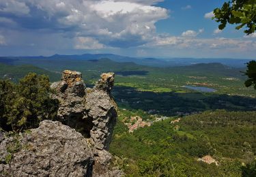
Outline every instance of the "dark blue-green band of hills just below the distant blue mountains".
[[16, 58], [0, 58], [0, 63], [12, 65], [33, 65], [43, 69], [61, 72], [63, 69], [74, 69], [79, 71], [155, 71], [169, 74], [200, 74], [200, 75], [223, 75], [223, 76], [242, 76], [240, 71], [244, 68], [233, 68], [221, 63], [198, 63], [193, 65], [179, 67], [149, 67], [138, 65], [134, 62], [116, 62], [111, 59], [16, 59]]

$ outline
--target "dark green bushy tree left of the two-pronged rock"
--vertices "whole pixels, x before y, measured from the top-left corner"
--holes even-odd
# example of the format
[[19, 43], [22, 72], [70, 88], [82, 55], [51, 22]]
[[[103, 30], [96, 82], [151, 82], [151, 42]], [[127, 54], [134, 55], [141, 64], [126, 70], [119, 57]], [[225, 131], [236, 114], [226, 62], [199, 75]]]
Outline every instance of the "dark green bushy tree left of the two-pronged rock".
[[41, 120], [57, 115], [58, 101], [51, 99], [47, 76], [30, 73], [18, 84], [0, 80], [0, 127], [22, 131], [38, 127]]

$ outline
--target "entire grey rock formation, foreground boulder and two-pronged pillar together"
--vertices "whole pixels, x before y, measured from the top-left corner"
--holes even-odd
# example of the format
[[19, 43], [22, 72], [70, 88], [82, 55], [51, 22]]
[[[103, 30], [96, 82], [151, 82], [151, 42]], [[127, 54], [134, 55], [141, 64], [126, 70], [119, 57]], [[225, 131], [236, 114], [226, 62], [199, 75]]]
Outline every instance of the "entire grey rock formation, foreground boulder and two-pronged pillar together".
[[51, 88], [59, 100], [57, 120], [26, 133], [0, 135], [0, 176], [122, 176], [107, 151], [117, 118], [111, 97], [115, 74], [86, 88], [82, 74], [63, 71]]

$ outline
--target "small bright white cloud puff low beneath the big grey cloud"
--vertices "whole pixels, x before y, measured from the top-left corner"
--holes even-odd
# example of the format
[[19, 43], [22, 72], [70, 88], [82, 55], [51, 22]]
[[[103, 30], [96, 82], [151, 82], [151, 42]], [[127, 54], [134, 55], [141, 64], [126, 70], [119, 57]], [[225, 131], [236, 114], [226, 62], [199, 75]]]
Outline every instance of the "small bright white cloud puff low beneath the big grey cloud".
[[100, 44], [96, 39], [92, 37], [76, 37], [75, 43], [76, 49], [94, 50], [104, 48], [103, 44]]

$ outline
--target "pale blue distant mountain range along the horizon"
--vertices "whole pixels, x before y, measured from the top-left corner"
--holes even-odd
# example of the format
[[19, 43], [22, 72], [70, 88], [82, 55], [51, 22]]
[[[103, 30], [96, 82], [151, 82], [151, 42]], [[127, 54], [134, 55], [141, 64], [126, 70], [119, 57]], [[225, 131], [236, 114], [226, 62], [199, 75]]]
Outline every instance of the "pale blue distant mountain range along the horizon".
[[111, 59], [116, 62], [132, 62], [138, 65], [145, 65], [151, 67], [175, 67], [184, 65], [193, 65], [197, 63], [221, 63], [229, 67], [245, 67], [250, 59], [194, 59], [194, 58], [169, 58], [169, 59], [156, 59], [156, 58], [135, 58], [124, 57], [117, 54], [81, 54], [81, 55], [60, 55], [55, 54], [50, 57], [35, 56], [35, 57], [0, 57], [1, 63], [12, 64], [13, 61], [23, 59], [70, 59], [70, 60], [98, 60], [98, 59]]

